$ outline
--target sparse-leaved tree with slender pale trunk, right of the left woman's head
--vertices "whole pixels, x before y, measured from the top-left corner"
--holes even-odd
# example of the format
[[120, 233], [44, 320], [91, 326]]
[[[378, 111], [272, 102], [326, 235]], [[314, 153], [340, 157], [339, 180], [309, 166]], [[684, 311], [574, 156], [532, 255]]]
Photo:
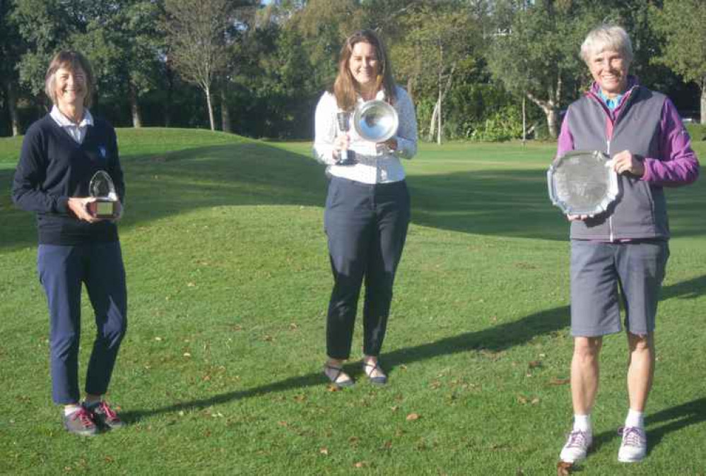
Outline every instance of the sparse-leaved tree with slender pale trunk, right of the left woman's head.
[[213, 119], [211, 87], [225, 67], [225, 30], [230, 20], [227, 0], [166, 0], [163, 23], [174, 69], [206, 95], [208, 121]]

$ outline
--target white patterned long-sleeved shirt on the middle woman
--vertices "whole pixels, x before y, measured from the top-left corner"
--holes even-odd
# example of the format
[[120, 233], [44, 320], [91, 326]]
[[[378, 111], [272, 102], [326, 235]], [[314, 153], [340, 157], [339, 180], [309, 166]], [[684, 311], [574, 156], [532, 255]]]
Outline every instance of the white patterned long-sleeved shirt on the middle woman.
[[[351, 127], [348, 131], [351, 137], [348, 150], [355, 152], [355, 165], [336, 165], [334, 139], [342, 133], [336, 120], [340, 109], [336, 96], [329, 92], [322, 95], [316, 108], [314, 157], [328, 166], [331, 175], [364, 184], [386, 184], [404, 179], [404, 167], [400, 158], [411, 159], [417, 153], [417, 119], [407, 92], [399, 86], [395, 88], [397, 97], [392, 107], [399, 118], [399, 127], [394, 136], [397, 149], [390, 151], [385, 145], [365, 141]], [[384, 91], [378, 91], [375, 99], [384, 98]], [[363, 98], [359, 96], [358, 104], [362, 102]]]

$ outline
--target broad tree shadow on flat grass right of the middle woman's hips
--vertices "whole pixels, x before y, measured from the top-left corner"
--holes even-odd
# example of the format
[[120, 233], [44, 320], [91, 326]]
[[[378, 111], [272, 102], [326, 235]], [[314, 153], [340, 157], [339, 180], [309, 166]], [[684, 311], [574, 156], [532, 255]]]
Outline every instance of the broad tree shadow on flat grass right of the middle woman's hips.
[[[543, 170], [413, 175], [408, 182], [412, 219], [418, 225], [504, 237], [568, 239], [569, 225], [549, 201]], [[675, 236], [706, 234], [704, 184], [666, 189], [666, 196]]]

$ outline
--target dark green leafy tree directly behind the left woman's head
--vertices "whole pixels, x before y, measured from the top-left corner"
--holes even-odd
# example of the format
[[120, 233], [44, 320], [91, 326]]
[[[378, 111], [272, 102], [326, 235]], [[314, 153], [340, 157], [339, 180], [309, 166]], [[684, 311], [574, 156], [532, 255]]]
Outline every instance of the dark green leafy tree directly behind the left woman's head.
[[18, 64], [20, 79], [43, 99], [44, 71], [59, 49], [77, 49], [93, 66], [95, 103], [101, 95], [115, 102], [127, 97], [133, 125], [141, 118], [138, 99], [153, 88], [158, 71], [158, 16], [155, 0], [23, 0], [13, 20], [28, 44]]

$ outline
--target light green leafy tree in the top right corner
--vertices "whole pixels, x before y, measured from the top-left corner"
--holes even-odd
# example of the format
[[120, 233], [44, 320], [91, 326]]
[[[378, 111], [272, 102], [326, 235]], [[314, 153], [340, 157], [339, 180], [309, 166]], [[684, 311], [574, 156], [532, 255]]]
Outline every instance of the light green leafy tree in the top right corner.
[[655, 62], [673, 69], [701, 93], [701, 124], [706, 124], [706, 6], [702, 0], [664, 0], [654, 7], [656, 29], [666, 40]]

